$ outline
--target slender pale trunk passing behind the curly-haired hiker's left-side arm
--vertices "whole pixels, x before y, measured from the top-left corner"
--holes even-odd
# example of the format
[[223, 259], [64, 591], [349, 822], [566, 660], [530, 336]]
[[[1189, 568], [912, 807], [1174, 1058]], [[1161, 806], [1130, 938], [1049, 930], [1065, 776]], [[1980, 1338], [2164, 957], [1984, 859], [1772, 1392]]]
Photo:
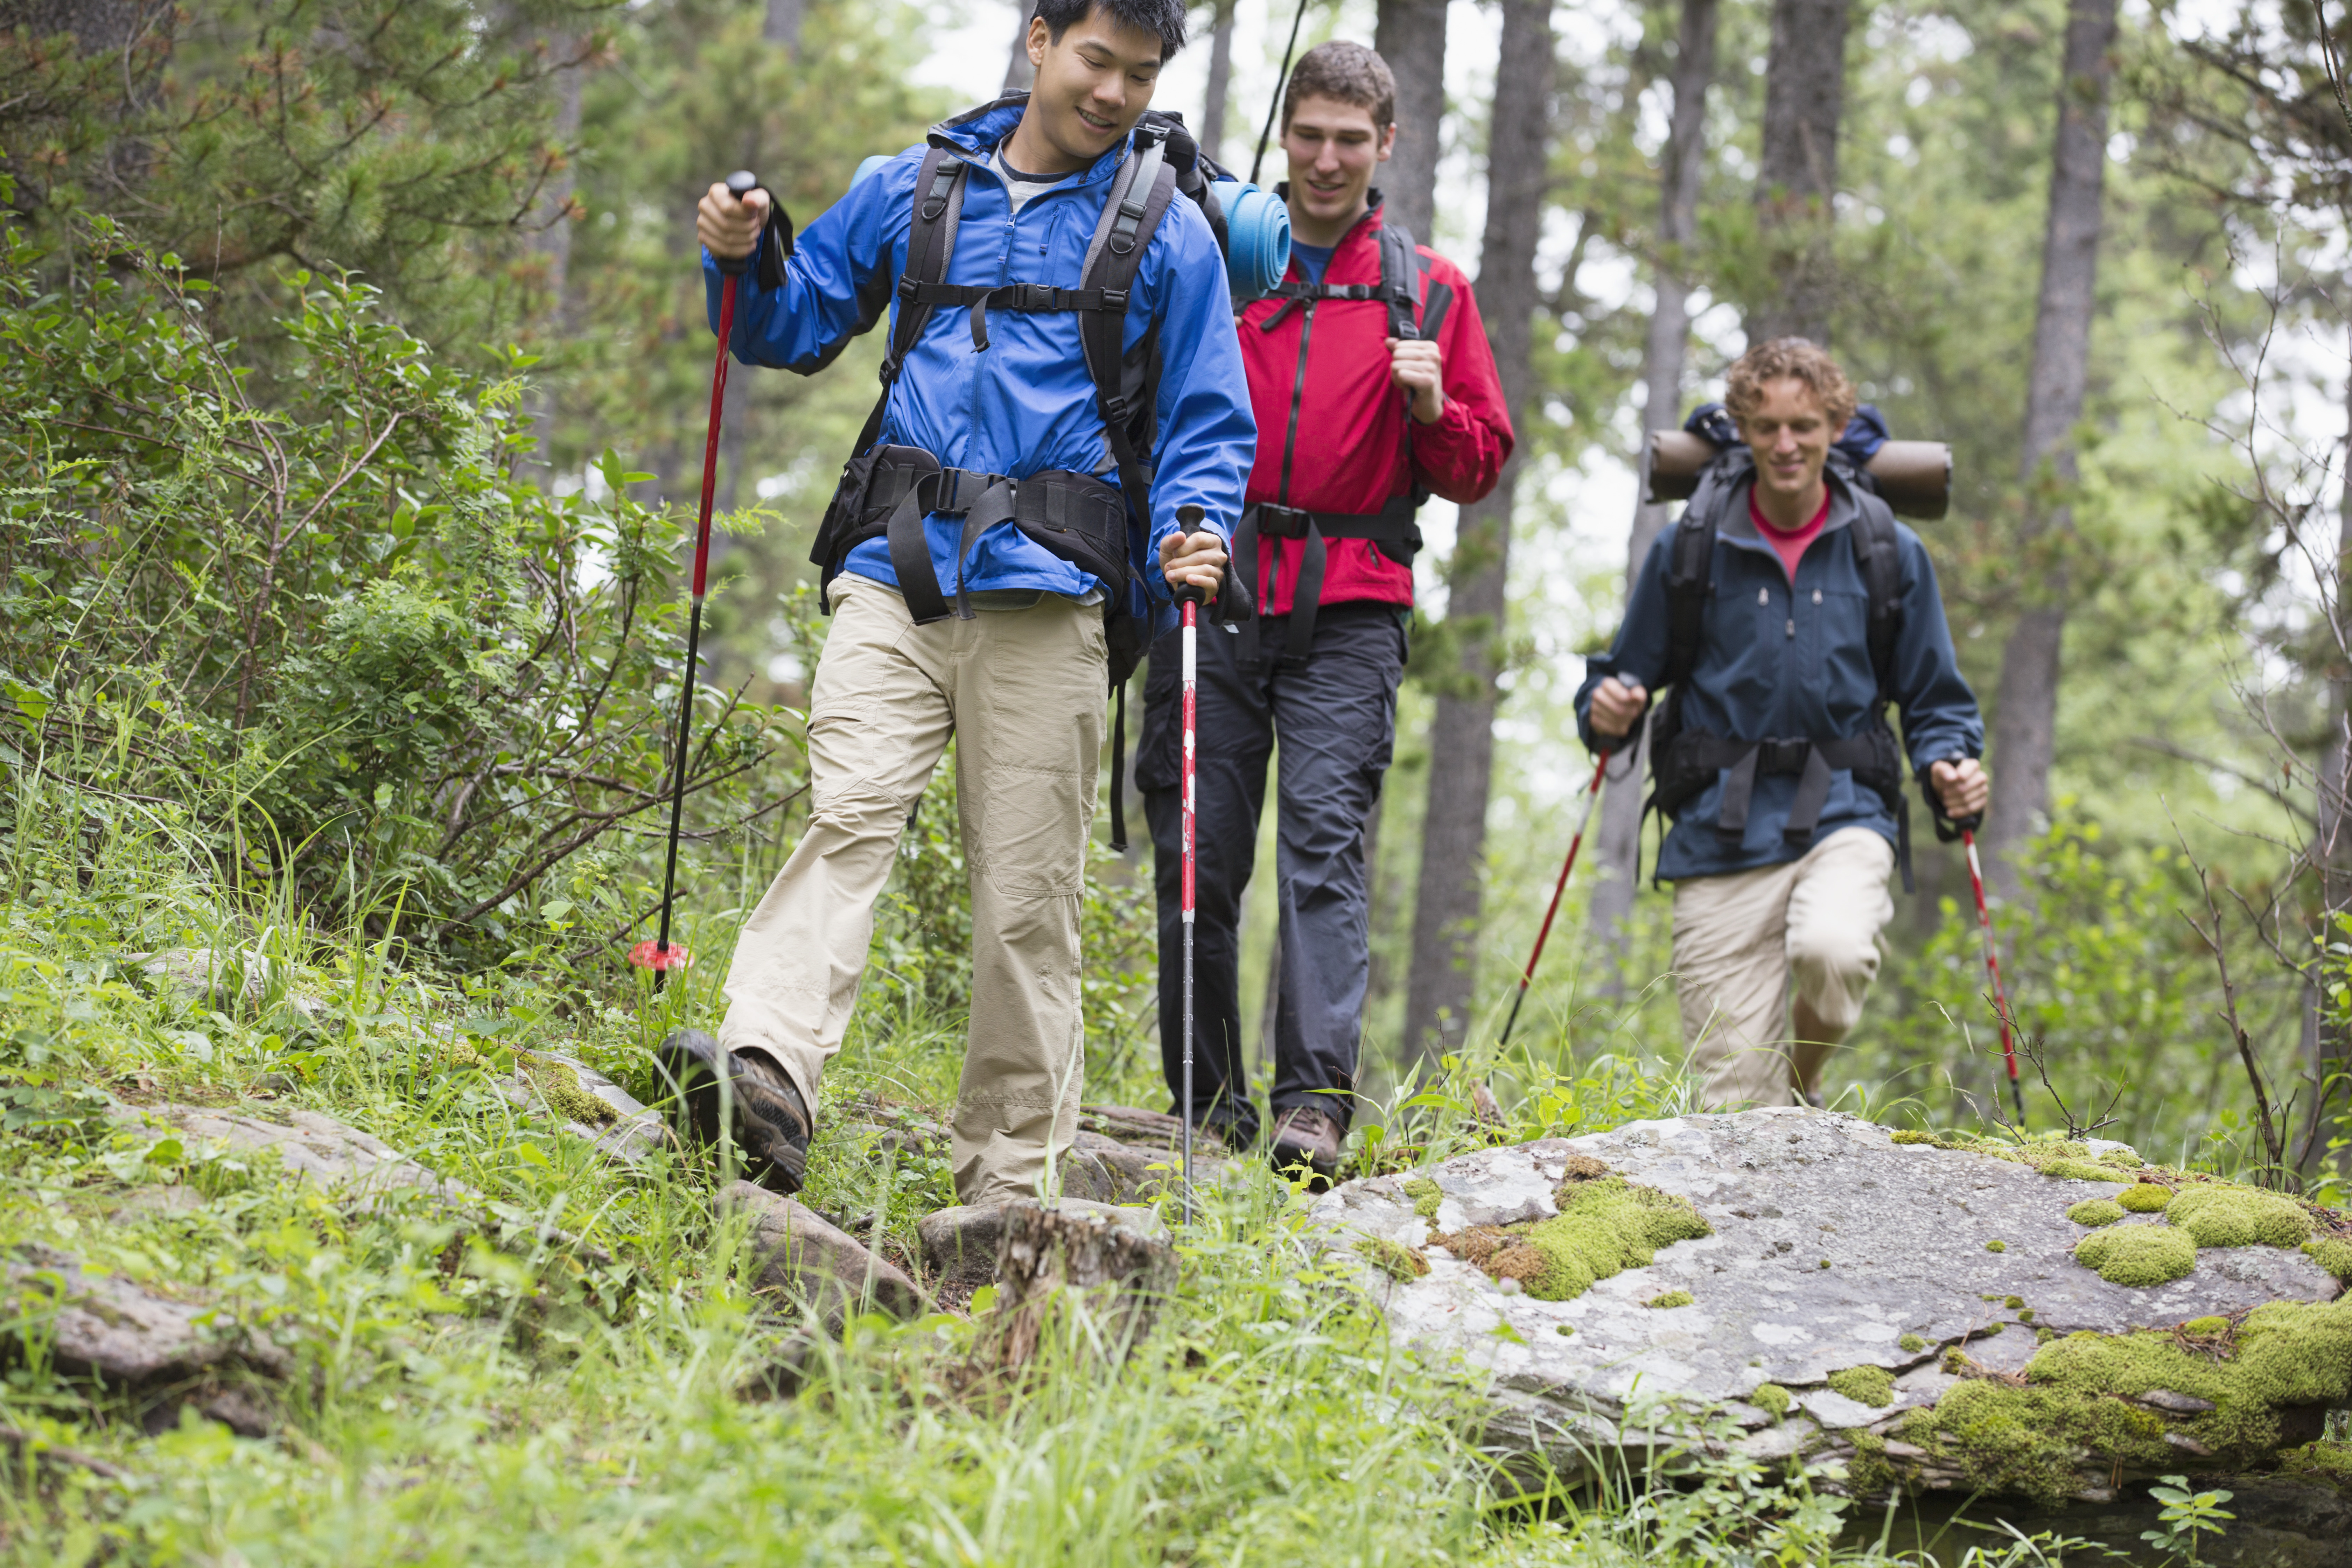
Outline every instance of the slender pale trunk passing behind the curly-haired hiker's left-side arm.
[[[1708, 82], [1715, 78], [1715, 12], [1719, 0], [1682, 0], [1682, 31], [1675, 40], [1675, 118], [1665, 132], [1665, 155], [1658, 160], [1658, 261], [1653, 268], [1658, 303], [1649, 315], [1649, 343], [1642, 353], [1644, 430], [1672, 430], [1682, 423], [1682, 362], [1691, 336], [1689, 254], [1698, 237], [1698, 188], [1708, 172]], [[1637, 501], [1632, 536], [1625, 541], [1625, 592], [1632, 592], [1649, 548], [1665, 527], [1665, 508]], [[1649, 759], [1649, 731], [1642, 743], [1611, 759], [1602, 795], [1602, 832], [1592, 844], [1595, 872], [1590, 919], [1595, 940], [1623, 954], [1625, 917], [1632, 914], [1635, 860], [1642, 851], [1642, 771]], [[1618, 990], [1616, 964], [1602, 976], [1602, 987]]]

